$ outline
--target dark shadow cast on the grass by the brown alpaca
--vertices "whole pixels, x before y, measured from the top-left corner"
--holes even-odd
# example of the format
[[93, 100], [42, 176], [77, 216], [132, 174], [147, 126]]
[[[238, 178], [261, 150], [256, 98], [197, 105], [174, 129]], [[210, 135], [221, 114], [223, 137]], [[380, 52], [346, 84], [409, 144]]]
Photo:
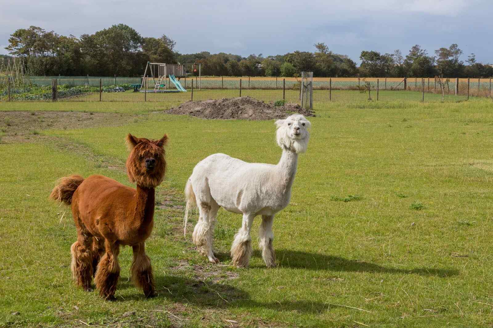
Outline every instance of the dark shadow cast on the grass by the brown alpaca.
[[[128, 277], [121, 277], [116, 290], [116, 301], [129, 301], [144, 299], [139, 290], [133, 295], [119, 297], [119, 290], [125, 290], [133, 286]], [[320, 313], [328, 308], [327, 303], [311, 300], [280, 300], [274, 302], [261, 302], [251, 299], [248, 292], [226, 283], [215, 283], [199, 279], [185, 278], [176, 274], [159, 275], [155, 277], [156, 297], [168, 299], [179, 303], [192, 303], [197, 306], [211, 308], [255, 308], [262, 307], [276, 311], [296, 311], [299, 313]]]

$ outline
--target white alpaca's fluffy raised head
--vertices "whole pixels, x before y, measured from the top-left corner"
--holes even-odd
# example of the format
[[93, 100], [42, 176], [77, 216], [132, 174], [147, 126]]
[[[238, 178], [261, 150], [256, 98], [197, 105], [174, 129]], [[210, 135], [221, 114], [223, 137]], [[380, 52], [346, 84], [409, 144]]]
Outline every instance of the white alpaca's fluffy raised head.
[[308, 129], [312, 124], [303, 115], [294, 114], [285, 119], [278, 119], [276, 126], [278, 127], [276, 139], [279, 147], [296, 153], [307, 150], [310, 140]]

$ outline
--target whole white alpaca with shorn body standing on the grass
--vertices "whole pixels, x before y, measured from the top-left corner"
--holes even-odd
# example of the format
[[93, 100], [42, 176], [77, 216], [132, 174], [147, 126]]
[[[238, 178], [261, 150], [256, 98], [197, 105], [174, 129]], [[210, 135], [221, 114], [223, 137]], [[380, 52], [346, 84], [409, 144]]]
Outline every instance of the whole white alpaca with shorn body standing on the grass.
[[212, 252], [212, 236], [217, 210], [224, 209], [243, 214], [242, 227], [231, 246], [233, 264], [248, 266], [251, 255], [250, 229], [253, 218], [262, 215], [259, 229], [259, 247], [267, 267], [276, 266], [276, 253], [272, 246], [274, 214], [284, 209], [291, 199], [298, 162], [298, 153], [305, 152], [310, 139], [310, 122], [303, 115], [291, 115], [276, 121], [277, 143], [282, 148], [277, 165], [246, 163], [225, 154], [213, 154], [200, 161], [193, 169], [185, 187], [187, 200], [185, 229], [188, 210], [199, 208], [199, 221], [192, 240], [198, 251], [212, 263], [219, 260]]

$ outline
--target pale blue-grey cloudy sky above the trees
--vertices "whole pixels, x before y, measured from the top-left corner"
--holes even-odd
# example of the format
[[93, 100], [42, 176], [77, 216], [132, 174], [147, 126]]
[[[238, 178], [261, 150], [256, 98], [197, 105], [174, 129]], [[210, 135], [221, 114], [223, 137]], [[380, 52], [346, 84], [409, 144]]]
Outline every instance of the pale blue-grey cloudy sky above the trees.
[[[145, 3], [143, 3], [145, 2]], [[325, 42], [359, 62], [361, 50], [405, 55], [414, 44], [429, 54], [457, 43], [462, 60], [475, 53], [493, 63], [492, 0], [0, 0], [0, 54], [16, 29], [31, 25], [63, 35], [124, 23], [142, 36], [166, 34], [180, 53], [248, 56], [314, 51]]]

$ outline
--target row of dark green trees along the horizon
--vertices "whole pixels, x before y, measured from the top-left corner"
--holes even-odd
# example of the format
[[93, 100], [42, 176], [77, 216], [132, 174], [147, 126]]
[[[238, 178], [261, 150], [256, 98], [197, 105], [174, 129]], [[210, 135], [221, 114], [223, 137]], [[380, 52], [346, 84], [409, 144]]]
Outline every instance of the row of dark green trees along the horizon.
[[142, 37], [125, 24], [80, 37], [31, 26], [16, 30], [8, 42], [5, 49], [13, 56], [24, 57], [31, 75], [141, 76], [146, 62], [151, 61], [200, 63], [202, 75], [215, 76], [292, 77], [302, 71], [313, 71], [318, 77], [493, 76], [493, 65], [477, 62], [474, 54], [468, 56], [467, 64], [460, 60], [463, 51], [457, 44], [439, 48], [433, 56], [420, 45], [414, 45], [406, 56], [400, 50], [392, 54], [364, 50], [358, 66], [348, 56], [332, 52], [323, 42], [314, 44], [315, 52], [294, 51], [267, 57], [206, 51], [180, 54], [171, 37]]

